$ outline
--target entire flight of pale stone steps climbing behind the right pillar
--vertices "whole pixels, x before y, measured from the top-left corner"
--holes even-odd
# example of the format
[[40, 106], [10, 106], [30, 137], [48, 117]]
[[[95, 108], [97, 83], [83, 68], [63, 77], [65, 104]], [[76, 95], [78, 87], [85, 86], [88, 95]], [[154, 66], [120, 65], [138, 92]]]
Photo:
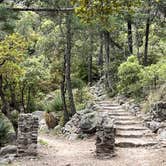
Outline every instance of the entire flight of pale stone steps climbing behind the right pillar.
[[100, 101], [98, 104], [102, 112], [114, 119], [117, 147], [146, 147], [158, 143], [156, 135], [119, 104], [110, 104], [110, 101]]

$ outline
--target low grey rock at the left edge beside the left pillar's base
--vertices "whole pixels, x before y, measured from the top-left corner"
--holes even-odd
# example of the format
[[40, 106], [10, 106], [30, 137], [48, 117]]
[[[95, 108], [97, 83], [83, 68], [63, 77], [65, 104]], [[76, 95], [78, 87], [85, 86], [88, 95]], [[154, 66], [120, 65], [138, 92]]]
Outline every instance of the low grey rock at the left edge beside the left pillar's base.
[[15, 145], [8, 145], [0, 150], [0, 156], [5, 156], [7, 154], [16, 154], [17, 153], [17, 146]]

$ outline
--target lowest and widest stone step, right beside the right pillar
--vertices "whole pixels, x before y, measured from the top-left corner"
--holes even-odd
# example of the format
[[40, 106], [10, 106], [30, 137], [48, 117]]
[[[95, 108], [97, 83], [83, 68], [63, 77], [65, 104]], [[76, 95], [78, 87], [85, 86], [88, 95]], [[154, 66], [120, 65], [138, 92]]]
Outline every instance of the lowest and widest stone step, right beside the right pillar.
[[121, 148], [129, 147], [145, 147], [156, 145], [157, 141], [153, 139], [140, 139], [140, 138], [116, 138], [115, 145]]

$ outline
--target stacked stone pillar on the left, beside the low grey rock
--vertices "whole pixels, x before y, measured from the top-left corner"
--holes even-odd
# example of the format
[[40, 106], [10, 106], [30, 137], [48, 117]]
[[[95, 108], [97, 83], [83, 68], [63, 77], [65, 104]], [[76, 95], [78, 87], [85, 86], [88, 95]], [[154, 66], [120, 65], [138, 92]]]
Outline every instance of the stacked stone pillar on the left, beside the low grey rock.
[[38, 118], [32, 114], [20, 114], [18, 118], [17, 155], [36, 156]]

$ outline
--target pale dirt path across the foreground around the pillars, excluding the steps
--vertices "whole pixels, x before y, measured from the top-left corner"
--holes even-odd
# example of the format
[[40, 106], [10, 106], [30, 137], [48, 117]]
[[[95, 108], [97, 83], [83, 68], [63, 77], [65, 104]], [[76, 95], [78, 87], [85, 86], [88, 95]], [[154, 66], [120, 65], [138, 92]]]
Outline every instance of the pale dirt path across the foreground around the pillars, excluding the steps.
[[166, 166], [166, 148], [117, 148], [110, 160], [95, 158], [95, 139], [68, 141], [40, 136], [48, 146], [39, 146], [36, 159], [24, 158], [13, 166]]

